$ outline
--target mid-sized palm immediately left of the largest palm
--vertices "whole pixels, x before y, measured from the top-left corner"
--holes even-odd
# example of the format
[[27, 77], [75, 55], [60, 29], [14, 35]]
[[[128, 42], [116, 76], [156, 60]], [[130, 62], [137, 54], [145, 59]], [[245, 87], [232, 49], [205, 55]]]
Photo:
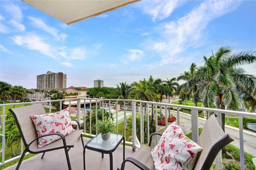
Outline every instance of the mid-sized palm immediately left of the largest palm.
[[193, 97], [194, 106], [197, 106], [197, 102], [199, 101], [199, 88], [197, 83], [194, 82], [196, 77], [198, 77], [197, 67], [195, 63], [192, 63], [190, 65], [189, 71], [185, 71], [177, 78], [178, 81], [185, 81], [185, 83], [181, 84], [178, 91], [181, 91], [182, 89], [186, 95], [191, 94]]

